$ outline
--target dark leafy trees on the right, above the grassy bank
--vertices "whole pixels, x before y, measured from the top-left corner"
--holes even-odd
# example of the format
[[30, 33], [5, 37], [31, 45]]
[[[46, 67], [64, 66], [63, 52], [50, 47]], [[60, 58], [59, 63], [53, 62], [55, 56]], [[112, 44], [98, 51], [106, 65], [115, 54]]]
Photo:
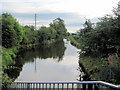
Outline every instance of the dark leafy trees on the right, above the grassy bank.
[[105, 16], [93, 24], [87, 20], [79, 31], [79, 43], [85, 54], [106, 57], [109, 53], [120, 52], [120, 16]]

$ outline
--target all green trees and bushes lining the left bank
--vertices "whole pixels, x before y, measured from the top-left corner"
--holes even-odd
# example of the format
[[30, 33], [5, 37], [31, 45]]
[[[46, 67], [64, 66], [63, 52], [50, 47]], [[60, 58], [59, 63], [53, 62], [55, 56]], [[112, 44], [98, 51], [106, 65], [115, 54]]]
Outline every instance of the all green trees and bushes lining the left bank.
[[[10, 69], [8, 66], [14, 63], [14, 58], [19, 49], [50, 45], [58, 39], [63, 39], [67, 31], [64, 21], [60, 18], [55, 19], [53, 24], [50, 24], [50, 27], [42, 26], [38, 30], [34, 30], [34, 26], [21, 26], [18, 21], [8, 13], [3, 13], [2, 16], [0, 16], [0, 24], [1, 21], [2, 35], [0, 34], [0, 37], [2, 36], [2, 46], [0, 46], [0, 51], [2, 52], [0, 52], [0, 62], [2, 64], [2, 71], [0, 74], [2, 74], [3, 83], [13, 81], [9, 78], [9, 75], [5, 73], [5, 70]], [[60, 50], [62, 49], [60, 48]]]

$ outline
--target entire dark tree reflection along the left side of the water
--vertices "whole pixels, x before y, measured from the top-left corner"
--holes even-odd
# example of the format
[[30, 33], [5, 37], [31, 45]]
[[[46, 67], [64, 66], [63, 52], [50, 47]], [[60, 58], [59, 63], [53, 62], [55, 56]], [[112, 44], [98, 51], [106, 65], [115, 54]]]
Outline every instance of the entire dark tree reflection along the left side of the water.
[[15, 80], [19, 76], [20, 71], [22, 71], [22, 67], [25, 63], [34, 62], [35, 58], [53, 58], [59, 62], [64, 56], [65, 49], [66, 47], [62, 40], [50, 46], [40, 46], [31, 50], [21, 51], [16, 57], [15, 64], [9, 65], [8, 69], [4, 72], [7, 73], [11, 79]]

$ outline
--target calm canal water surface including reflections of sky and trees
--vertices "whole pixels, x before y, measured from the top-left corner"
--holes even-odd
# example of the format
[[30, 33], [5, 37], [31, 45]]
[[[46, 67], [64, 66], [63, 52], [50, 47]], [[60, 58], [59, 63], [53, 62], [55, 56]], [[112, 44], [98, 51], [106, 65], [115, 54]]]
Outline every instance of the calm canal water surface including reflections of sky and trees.
[[[64, 39], [51, 46], [40, 46], [18, 55], [13, 72], [15, 81], [78, 81], [79, 49]], [[12, 71], [11, 71], [12, 72]]]

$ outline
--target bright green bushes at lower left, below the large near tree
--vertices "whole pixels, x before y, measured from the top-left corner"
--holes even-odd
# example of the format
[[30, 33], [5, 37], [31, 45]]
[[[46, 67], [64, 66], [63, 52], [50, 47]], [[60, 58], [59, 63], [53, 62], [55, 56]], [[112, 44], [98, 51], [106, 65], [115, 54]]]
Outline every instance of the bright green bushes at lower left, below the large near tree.
[[12, 82], [12, 79], [9, 78], [9, 76], [4, 73], [5, 69], [8, 69], [8, 65], [14, 63], [14, 58], [16, 57], [17, 48], [10, 48], [6, 49], [1, 47], [1, 54], [0, 54], [0, 66], [2, 67], [2, 70], [0, 71], [0, 74], [2, 75], [2, 88], [5, 87], [6, 82]]

